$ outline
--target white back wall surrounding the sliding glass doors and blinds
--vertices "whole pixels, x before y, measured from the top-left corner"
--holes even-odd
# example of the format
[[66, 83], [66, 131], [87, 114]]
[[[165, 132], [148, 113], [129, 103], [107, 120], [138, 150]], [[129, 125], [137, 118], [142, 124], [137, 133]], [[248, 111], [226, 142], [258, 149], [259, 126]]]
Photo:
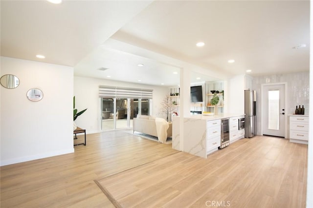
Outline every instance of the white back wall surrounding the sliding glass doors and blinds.
[[112, 80], [95, 79], [87, 77], [74, 77], [74, 95], [75, 95], [75, 108], [78, 111], [88, 108], [88, 110], [80, 115], [75, 123], [77, 126], [86, 128], [86, 133], [100, 132], [99, 119], [99, 85], [106, 86], [120, 86], [120, 87], [133, 87], [142, 89], [153, 89], [153, 115], [158, 117], [165, 117], [158, 115], [160, 103], [169, 95], [170, 89], [168, 87], [160, 87], [153, 85], [124, 83]]

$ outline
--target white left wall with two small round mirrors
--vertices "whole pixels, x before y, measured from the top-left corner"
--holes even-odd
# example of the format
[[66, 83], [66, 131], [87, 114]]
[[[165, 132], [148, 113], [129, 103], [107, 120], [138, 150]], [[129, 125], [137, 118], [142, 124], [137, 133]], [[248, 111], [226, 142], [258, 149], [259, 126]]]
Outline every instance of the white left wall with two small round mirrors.
[[[1, 76], [20, 79], [15, 89], [0, 87], [1, 166], [74, 151], [73, 68], [7, 57], [0, 58]], [[43, 91], [31, 102], [26, 92]]]

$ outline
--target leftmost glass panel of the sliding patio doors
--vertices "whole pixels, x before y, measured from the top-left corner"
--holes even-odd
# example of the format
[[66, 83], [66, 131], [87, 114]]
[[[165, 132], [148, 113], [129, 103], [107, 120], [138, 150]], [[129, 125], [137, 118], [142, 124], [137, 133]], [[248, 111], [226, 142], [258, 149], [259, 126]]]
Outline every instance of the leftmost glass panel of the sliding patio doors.
[[102, 98], [102, 130], [114, 128], [114, 100], [112, 98]]

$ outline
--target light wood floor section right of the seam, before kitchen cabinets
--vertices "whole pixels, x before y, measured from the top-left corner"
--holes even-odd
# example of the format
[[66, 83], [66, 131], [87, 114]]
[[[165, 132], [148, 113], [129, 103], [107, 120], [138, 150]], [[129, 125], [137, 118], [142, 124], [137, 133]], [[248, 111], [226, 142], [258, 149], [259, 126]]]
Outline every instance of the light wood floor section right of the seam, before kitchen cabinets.
[[116, 207], [304, 208], [306, 153], [306, 145], [255, 137], [207, 159], [179, 152], [98, 183]]

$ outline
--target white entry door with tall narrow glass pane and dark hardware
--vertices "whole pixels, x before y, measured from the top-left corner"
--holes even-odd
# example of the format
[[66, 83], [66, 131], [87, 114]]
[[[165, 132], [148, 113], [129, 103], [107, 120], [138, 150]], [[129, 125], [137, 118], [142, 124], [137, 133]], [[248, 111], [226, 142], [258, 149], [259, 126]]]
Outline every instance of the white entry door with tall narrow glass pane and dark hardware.
[[285, 137], [285, 84], [263, 87], [263, 135]]

